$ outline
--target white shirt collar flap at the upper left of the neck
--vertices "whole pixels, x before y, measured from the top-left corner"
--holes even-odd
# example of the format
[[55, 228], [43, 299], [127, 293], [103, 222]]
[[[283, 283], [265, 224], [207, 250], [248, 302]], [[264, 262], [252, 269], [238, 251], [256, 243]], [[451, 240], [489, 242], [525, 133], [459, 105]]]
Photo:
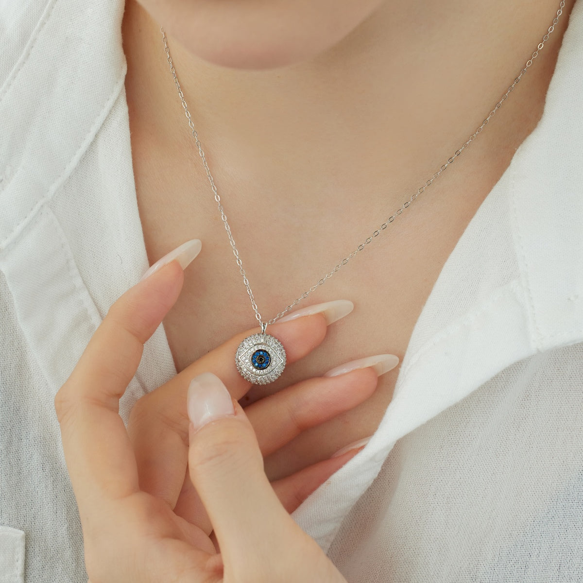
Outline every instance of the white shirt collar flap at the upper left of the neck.
[[123, 12], [123, 0], [51, 0], [0, 87], [0, 252], [67, 180], [122, 90]]

